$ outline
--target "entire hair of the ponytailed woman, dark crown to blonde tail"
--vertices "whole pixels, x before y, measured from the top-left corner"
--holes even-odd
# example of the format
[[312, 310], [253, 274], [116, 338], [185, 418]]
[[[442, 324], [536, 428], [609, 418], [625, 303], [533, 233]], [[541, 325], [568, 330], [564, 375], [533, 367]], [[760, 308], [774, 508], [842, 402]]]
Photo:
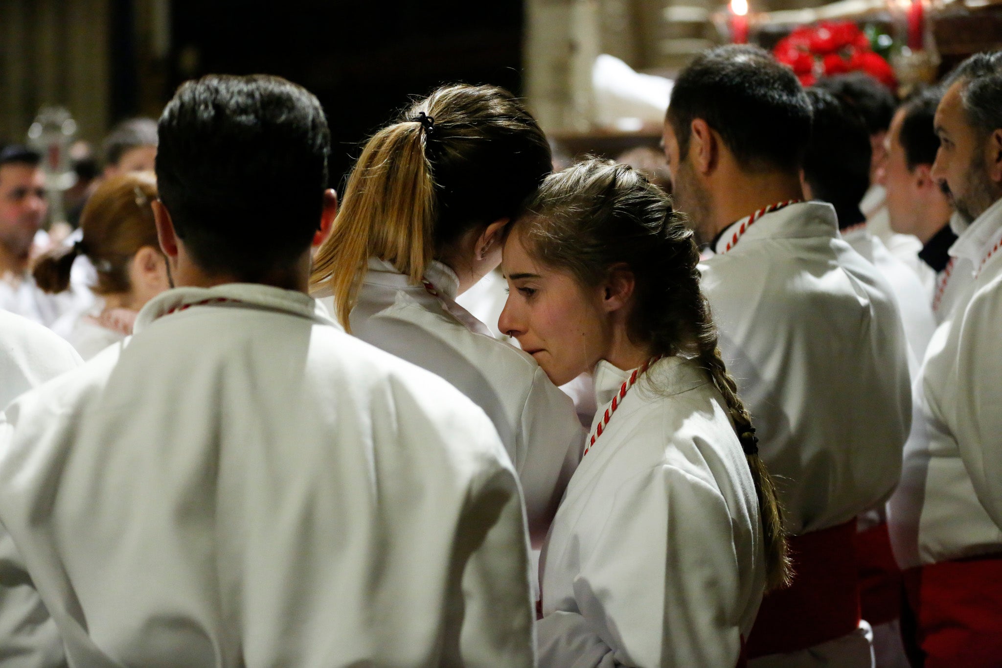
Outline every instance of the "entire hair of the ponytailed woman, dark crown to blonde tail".
[[551, 168], [546, 135], [518, 98], [497, 86], [442, 86], [366, 144], [312, 287], [330, 288], [348, 328], [370, 257], [418, 283], [467, 231], [514, 218]]

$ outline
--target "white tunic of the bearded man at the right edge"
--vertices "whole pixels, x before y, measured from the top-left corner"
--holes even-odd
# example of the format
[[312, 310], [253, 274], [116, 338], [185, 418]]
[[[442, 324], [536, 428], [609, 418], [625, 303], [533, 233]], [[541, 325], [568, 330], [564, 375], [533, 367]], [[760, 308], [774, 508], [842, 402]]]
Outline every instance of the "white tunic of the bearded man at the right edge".
[[[1002, 199], [954, 242], [979, 267], [1002, 240]], [[915, 385], [916, 429], [888, 504], [903, 568], [1002, 552], [1002, 248], [936, 330]]]

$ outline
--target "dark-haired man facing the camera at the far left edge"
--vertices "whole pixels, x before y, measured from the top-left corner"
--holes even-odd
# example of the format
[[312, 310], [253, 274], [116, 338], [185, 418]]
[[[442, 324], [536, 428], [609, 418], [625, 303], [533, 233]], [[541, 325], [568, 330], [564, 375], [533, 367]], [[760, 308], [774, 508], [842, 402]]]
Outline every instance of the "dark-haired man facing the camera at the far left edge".
[[12, 144], [0, 151], [0, 309], [46, 326], [74, 305], [69, 293], [46, 294], [28, 271], [48, 202], [38, 153]]

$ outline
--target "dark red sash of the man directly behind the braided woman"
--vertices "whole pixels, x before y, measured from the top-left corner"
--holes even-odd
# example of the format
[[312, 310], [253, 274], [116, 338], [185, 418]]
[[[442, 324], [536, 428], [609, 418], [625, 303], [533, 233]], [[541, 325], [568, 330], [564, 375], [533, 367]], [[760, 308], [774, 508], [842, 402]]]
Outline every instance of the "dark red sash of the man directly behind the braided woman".
[[856, 520], [790, 538], [794, 584], [766, 595], [748, 659], [808, 649], [859, 628], [855, 540]]

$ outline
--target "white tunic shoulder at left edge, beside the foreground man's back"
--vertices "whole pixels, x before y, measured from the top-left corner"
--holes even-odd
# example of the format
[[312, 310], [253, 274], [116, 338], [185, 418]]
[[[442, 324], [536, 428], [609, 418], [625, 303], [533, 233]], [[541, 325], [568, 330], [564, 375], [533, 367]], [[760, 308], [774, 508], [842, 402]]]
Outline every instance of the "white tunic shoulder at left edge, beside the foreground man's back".
[[41, 324], [0, 310], [0, 411], [80, 364], [72, 347]]

